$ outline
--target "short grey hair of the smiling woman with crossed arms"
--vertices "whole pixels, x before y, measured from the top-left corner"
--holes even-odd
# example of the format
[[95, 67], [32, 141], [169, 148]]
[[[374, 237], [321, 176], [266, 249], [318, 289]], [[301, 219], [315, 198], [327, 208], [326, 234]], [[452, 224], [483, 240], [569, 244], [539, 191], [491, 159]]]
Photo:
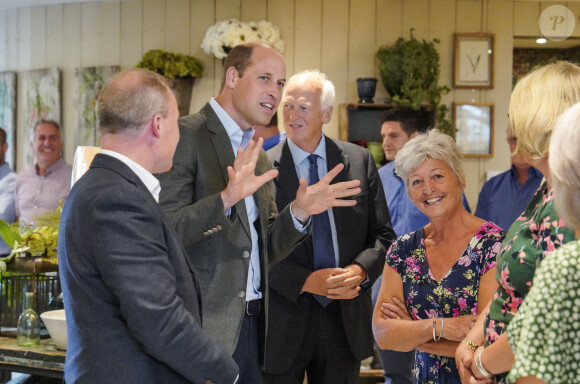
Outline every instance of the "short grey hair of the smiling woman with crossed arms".
[[443, 161], [455, 173], [461, 185], [465, 185], [465, 172], [461, 164], [459, 148], [451, 136], [431, 129], [409, 140], [395, 156], [395, 172], [409, 190], [409, 175], [428, 158]]

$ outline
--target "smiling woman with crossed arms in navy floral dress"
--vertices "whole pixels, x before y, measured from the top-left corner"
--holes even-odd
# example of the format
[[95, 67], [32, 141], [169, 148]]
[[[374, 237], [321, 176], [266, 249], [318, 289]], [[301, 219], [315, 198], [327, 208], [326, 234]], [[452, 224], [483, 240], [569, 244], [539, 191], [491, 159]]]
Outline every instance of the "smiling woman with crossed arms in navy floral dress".
[[395, 164], [429, 224], [401, 236], [387, 253], [375, 339], [383, 349], [416, 349], [415, 383], [459, 383], [455, 349], [497, 288], [495, 258], [504, 233], [463, 207], [465, 176], [450, 136], [418, 135]]

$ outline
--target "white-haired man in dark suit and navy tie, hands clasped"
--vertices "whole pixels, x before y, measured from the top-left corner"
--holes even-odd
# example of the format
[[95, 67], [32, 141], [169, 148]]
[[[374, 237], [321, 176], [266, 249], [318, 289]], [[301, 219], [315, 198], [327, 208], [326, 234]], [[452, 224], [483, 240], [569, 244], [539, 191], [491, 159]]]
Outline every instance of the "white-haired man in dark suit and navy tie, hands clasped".
[[299, 179], [315, 182], [337, 164], [344, 170], [336, 181], [358, 179], [362, 192], [356, 206], [313, 217], [312, 238], [270, 270], [267, 384], [301, 384], [305, 372], [309, 384], [358, 383], [361, 360], [373, 354], [370, 287], [395, 234], [370, 152], [322, 134], [333, 101], [334, 86], [324, 74], [292, 76], [282, 98], [288, 138], [268, 151], [279, 171], [273, 182], [278, 209], [294, 200]]

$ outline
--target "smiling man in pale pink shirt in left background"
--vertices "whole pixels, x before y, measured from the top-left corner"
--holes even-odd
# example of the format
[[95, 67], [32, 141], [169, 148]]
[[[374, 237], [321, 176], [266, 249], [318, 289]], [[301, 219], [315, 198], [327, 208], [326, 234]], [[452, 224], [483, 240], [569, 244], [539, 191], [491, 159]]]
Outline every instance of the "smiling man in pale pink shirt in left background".
[[37, 217], [58, 207], [68, 196], [72, 166], [61, 158], [63, 142], [56, 121], [38, 120], [30, 138], [36, 164], [16, 176], [16, 217], [35, 223]]

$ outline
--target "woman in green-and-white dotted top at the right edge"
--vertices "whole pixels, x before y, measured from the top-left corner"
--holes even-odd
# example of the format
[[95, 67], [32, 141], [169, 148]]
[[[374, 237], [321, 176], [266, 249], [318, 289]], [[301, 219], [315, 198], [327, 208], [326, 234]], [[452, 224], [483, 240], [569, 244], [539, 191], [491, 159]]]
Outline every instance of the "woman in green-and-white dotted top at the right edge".
[[[580, 104], [558, 119], [550, 143], [556, 210], [580, 233]], [[580, 240], [546, 256], [508, 328], [508, 381], [566, 384], [580, 379]]]

